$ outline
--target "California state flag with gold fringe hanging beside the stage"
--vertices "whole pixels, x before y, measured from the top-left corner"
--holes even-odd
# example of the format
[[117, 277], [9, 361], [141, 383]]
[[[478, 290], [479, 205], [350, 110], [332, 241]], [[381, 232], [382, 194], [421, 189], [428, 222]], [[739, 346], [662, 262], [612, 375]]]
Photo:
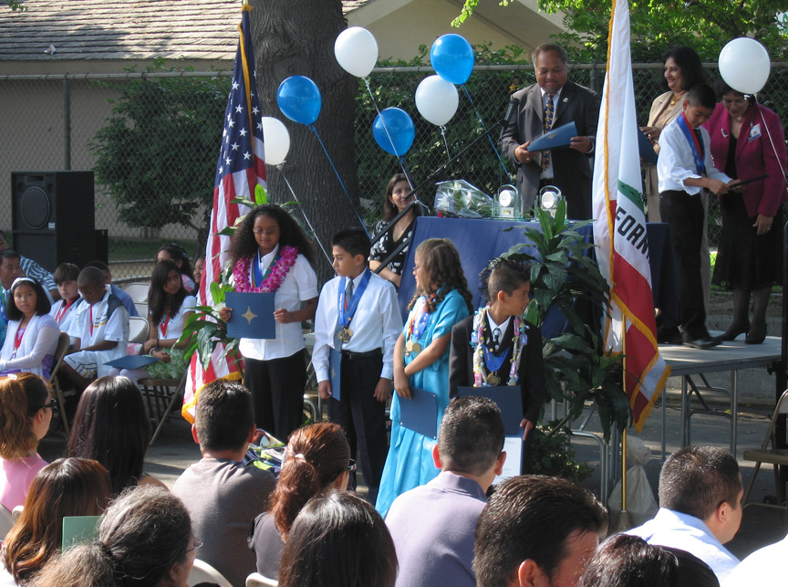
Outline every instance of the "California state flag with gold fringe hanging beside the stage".
[[665, 387], [669, 367], [657, 344], [627, 0], [613, 0], [607, 50], [594, 164], [594, 241], [599, 269], [610, 287], [605, 348], [624, 354], [624, 389], [640, 432]]

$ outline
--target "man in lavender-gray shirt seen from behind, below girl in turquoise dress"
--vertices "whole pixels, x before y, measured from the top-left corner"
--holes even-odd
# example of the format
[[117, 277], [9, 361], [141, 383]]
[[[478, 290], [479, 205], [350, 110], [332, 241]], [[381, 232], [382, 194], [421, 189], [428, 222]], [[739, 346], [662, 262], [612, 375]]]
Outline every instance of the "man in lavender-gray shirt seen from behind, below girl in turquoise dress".
[[492, 400], [461, 397], [449, 404], [432, 449], [441, 475], [396, 498], [386, 516], [398, 587], [475, 587], [473, 529], [506, 460], [504, 434]]

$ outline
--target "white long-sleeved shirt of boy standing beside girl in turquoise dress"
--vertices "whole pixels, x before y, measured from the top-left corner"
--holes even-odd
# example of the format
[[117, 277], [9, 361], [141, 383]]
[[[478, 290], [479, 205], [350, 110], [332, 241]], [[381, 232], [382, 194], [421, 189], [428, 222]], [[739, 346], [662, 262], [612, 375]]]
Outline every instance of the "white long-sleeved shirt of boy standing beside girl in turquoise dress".
[[[364, 275], [362, 272], [353, 279], [353, 289]], [[317, 381], [328, 379], [328, 356], [334, 348], [334, 332], [337, 329], [339, 309], [337, 294], [342, 278], [328, 281], [320, 292], [315, 318], [315, 348], [312, 351], [312, 366], [315, 367]], [[346, 281], [347, 285], [347, 281]], [[383, 370], [380, 377], [394, 377], [394, 343], [402, 331], [402, 316], [399, 314], [397, 291], [394, 286], [376, 274], [369, 276], [364, 295], [358, 300], [358, 307], [350, 321], [353, 336], [342, 345], [343, 351], [368, 352], [383, 350]]]

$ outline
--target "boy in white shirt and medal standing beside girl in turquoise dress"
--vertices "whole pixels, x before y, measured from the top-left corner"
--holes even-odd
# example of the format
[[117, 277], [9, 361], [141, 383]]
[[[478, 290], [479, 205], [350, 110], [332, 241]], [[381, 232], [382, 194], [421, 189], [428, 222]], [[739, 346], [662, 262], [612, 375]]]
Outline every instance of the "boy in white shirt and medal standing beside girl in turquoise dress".
[[[368, 500], [375, 503], [388, 452], [386, 402], [402, 317], [394, 286], [369, 270], [367, 234], [343, 230], [331, 245], [337, 277], [320, 292], [312, 365], [317, 391], [328, 402], [328, 419], [345, 430], [352, 456], [360, 449]], [[332, 355], [340, 364], [332, 364]], [[340, 386], [334, 390], [330, 374], [337, 368]]]

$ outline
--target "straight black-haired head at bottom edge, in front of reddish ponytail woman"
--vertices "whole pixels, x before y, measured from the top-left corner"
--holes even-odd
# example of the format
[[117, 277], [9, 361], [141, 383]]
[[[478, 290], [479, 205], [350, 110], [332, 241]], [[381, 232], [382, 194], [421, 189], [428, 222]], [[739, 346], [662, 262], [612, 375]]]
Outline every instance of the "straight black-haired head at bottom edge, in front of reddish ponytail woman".
[[397, 553], [375, 508], [347, 491], [306, 504], [287, 535], [280, 587], [391, 587]]

